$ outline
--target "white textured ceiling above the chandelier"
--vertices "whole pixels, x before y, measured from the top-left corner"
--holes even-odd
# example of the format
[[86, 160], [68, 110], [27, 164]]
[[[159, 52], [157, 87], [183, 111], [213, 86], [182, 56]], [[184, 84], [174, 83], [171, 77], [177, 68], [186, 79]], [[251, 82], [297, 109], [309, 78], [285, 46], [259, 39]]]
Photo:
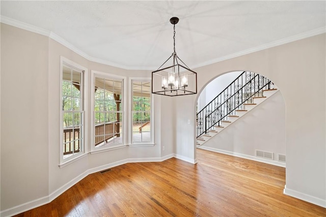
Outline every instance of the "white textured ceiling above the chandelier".
[[[325, 28], [325, 1], [1, 1], [1, 15], [35, 25], [88, 56], [156, 69], [173, 51], [189, 67]], [[323, 29], [322, 29], [323, 28]]]

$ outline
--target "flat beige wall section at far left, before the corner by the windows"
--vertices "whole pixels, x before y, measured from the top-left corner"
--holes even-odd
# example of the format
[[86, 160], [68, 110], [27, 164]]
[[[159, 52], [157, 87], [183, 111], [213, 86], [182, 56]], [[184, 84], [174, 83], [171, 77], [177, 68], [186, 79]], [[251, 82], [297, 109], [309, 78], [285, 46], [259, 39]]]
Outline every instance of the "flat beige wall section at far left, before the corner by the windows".
[[48, 37], [1, 25], [1, 208], [48, 195]]

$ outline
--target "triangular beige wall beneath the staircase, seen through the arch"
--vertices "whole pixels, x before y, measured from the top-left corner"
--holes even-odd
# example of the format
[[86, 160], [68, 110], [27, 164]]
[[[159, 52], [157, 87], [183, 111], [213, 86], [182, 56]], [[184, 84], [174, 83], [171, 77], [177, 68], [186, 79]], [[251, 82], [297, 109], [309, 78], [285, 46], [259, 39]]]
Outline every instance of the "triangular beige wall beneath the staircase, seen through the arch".
[[281, 92], [270, 96], [201, 146], [203, 149], [255, 158], [255, 150], [286, 154], [285, 103]]

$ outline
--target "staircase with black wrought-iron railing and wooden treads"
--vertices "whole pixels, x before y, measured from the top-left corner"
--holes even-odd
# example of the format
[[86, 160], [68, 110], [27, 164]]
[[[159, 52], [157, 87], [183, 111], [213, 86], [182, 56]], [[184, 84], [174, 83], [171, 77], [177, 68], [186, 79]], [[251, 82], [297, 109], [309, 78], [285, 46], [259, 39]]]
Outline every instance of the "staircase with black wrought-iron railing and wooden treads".
[[197, 147], [237, 121], [278, 90], [266, 77], [244, 71], [197, 113]]

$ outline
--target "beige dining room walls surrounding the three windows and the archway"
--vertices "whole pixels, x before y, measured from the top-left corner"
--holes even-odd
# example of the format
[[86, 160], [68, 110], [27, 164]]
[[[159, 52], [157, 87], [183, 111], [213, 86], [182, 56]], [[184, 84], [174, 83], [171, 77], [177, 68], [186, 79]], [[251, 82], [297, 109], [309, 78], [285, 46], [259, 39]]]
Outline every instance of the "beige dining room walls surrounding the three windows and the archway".
[[[286, 187], [321, 202], [326, 198], [324, 51], [323, 34], [195, 70], [198, 90], [213, 77], [235, 70], [254, 71], [275, 81], [286, 104]], [[155, 95], [155, 146], [88, 154], [60, 169], [60, 56], [87, 67], [89, 73], [93, 69], [127, 78], [150, 76], [148, 71], [88, 61], [48, 37], [2, 23], [2, 211], [9, 209], [6, 213], [10, 213], [45, 203], [90, 170], [126, 158], [176, 154], [195, 161], [197, 96]], [[89, 147], [90, 137], [87, 143]], [[165, 151], [161, 150], [163, 145]]]

